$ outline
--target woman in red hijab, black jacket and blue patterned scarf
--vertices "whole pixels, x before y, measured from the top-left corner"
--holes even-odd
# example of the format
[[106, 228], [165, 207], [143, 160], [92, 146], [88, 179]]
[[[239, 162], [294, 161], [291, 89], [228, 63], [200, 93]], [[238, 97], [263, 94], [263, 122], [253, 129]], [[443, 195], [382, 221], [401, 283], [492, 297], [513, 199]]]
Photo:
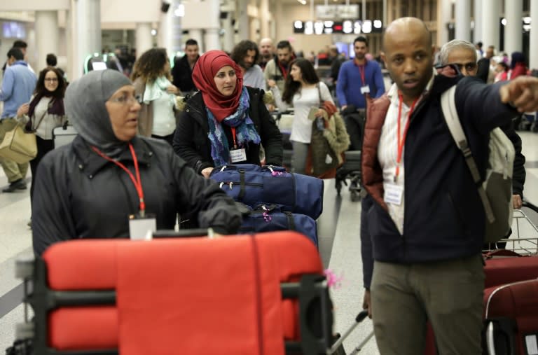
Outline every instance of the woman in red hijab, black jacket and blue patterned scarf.
[[193, 69], [198, 92], [188, 99], [174, 134], [174, 151], [198, 174], [214, 167], [282, 165], [282, 134], [263, 104], [263, 90], [243, 86], [241, 69], [221, 50], [210, 50]]

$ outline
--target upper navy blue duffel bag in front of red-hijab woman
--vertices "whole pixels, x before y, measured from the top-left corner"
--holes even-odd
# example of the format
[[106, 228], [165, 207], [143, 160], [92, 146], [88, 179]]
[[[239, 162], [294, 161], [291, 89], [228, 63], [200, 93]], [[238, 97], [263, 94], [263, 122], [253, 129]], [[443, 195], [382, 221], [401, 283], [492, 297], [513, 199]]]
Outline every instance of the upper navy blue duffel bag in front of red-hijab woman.
[[323, 211], [323, 180], [292, 174], [284, 167], [254, 164], [223, 165], [209, 176], [221, 189], [250, 207], [279, 204], [282, 211], [317, 219]]

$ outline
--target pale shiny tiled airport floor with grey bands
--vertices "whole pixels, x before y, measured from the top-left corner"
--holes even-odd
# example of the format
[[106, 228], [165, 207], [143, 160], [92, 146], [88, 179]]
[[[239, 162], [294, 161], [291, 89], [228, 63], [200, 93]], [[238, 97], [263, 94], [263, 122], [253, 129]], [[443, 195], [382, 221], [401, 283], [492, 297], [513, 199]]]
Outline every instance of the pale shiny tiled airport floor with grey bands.
[[[538, 204], [538, 134], [521, 132], [521, 137], [527, 158], [525, 198]], [[0, 169], [0, 187], [6, 185], [6, 177]], [[320, 235], [320, 251], [325, 265], [343, 277], [340, 287], [331, 291], [336, 313], [335, 330], [343, 333], [360, 311], [364, 293], [359, 242], [360, 203], [351, 202], [347, 190], [337, 197], [333, 181], [327, 182], [324, 199], [326, 220], [322, 221], [322, 227], [327, 232]], [[22, 307], [17, 307], [14, 301], [20, 293], [20, 282], [13, 277], [13, 264], [20, 256], [32, 255], [32, 235], [27, 227], [29, 216], [28, 190], [0, 193], [0, 353], [13, 342], [15, 323], [23, 319]], [[366, 319], [345, 342], [347, 351], [359, 344], [371, 329], [371, 321]], [[378, 354], [375, 340], [368, 342], [361, 354]]]

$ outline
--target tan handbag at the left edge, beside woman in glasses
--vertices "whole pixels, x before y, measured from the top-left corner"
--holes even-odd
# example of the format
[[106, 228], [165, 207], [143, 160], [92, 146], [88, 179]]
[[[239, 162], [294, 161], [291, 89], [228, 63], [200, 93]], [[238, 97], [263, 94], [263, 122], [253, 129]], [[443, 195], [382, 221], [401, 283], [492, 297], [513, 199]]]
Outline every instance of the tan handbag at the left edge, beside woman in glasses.
[[0, 156], [24, 164], [36, 158], [36, 134], [26, 133], [22, 125], [16, 125], [13, 130], [6, 132], [0, 143]]

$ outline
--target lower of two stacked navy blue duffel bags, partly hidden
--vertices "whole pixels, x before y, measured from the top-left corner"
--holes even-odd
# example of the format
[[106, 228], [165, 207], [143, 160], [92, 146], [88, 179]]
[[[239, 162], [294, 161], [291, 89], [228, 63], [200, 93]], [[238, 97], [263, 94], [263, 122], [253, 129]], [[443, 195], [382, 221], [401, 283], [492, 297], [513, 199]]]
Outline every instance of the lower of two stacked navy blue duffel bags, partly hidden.
[[282, 211], [277, 204], [260, 204], [254, 209], [241, 202], [236, 202], [236, 205], [243, 215], [239, 234], [295, 230], [317, 246], [316, 221], [309, 216]]

